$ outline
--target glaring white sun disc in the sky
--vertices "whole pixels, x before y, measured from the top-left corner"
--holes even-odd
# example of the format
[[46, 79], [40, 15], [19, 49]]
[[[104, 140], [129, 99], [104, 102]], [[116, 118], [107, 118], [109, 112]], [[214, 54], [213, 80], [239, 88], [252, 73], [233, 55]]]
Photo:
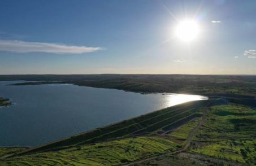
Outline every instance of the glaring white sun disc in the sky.
[[194, 20], [184, 20], [176, 27], [176, 36], [183, 41], [190, 42], [198, 37], [199, 26]]

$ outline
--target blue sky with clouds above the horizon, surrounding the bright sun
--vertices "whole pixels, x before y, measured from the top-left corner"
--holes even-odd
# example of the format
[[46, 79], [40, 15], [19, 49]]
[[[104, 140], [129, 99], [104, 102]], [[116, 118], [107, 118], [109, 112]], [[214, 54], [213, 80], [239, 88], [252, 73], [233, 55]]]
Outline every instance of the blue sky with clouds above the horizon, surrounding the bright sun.
[[[0, 2], [0, 74], [256, 74], [256, 1]], [[196, 20], [196, 40], [174, 35]]]

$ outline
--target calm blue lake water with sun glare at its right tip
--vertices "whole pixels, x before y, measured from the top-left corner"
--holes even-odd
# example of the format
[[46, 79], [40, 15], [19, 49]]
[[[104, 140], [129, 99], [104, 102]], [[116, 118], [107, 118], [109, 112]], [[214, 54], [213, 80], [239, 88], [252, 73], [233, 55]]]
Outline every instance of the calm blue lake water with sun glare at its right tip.
[[6, 86], [0, 97], [13, 106], [0, 108], [0, 146], [36, 146], [186, 101], [198, 95], [138, 94], [70, 84]]

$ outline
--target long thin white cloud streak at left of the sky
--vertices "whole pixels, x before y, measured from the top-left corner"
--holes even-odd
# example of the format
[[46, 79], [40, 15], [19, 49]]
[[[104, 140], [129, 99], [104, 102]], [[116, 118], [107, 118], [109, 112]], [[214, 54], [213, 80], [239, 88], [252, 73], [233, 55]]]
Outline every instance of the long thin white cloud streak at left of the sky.
[[82, 54], [98, 50], [102, 50], [102, 48], [63, 45], [59, 43], [0, 40], [0, 51], [12, 51], [16, 53], [44, 52], [54, 54]]

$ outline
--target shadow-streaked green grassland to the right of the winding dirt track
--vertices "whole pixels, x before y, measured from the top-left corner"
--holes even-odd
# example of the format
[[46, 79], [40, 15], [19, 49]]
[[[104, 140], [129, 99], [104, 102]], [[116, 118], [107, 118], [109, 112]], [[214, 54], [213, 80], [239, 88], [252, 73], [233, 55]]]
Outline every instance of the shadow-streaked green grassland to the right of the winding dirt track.
[[256, 108], [212, 106], [190, 151], [237, 163], [256, 164]]

